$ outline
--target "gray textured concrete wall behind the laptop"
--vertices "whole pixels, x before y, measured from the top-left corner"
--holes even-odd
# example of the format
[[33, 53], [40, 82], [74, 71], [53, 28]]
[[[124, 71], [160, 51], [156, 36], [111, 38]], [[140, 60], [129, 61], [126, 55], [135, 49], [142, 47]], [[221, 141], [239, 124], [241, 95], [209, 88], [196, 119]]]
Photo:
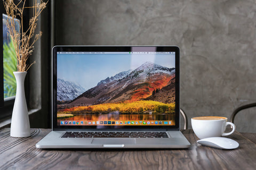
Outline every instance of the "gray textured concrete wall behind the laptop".
[[[256, 3], [247, 1], [55, 0], [55, 45], [177, 45], [181, 107], [189, 118], [230, 117], [256, 101]], [[255, 132], [256, 109], [238, 131]]]

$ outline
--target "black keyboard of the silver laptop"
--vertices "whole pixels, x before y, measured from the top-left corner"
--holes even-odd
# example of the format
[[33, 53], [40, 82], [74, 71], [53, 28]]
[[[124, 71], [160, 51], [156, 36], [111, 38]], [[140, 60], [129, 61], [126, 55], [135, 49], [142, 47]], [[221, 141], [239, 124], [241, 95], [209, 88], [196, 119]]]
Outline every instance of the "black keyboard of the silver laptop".
[[166, 132], [65, 132], [61, 138], [168, 138]]

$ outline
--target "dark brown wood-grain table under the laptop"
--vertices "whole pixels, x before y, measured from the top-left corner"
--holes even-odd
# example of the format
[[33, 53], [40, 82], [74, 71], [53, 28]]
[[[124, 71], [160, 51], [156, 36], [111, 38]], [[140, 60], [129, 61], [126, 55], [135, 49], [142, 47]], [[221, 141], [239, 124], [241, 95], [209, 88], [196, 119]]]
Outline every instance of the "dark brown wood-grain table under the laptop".
[[50, 129], [31, 129], [29, 138], [0, 130], [0, 169], [256, 169], [256, 133], [235, 132], [234, 150], [204, 147], [193, 130], [183, 134], [189, 149], [37, 149]]

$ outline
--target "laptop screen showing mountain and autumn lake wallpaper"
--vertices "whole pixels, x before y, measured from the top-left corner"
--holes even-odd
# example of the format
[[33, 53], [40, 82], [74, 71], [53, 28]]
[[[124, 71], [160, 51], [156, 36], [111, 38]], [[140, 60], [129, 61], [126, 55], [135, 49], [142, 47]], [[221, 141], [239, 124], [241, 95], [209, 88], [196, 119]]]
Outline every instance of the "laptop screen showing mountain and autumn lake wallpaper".
[[53, 50], [56, 127], [177, 128], [177, 50], [67, 48]]

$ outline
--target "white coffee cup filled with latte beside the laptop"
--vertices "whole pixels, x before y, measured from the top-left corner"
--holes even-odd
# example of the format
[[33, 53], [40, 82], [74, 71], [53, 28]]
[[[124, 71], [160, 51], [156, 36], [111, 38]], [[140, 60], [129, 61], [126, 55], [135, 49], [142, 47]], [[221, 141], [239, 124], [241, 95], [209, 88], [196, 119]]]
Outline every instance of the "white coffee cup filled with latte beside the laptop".
[[[227, 121], [227, 117], [202, 116], [191, 118], [191, 125], [196, 136], [199, 139], [204, 139], [210, 137], [227, 136], [234, 133], [236, 125]], [[229, 133], [225, 133], [227, 125], [231, 125], [233, 128]]]

